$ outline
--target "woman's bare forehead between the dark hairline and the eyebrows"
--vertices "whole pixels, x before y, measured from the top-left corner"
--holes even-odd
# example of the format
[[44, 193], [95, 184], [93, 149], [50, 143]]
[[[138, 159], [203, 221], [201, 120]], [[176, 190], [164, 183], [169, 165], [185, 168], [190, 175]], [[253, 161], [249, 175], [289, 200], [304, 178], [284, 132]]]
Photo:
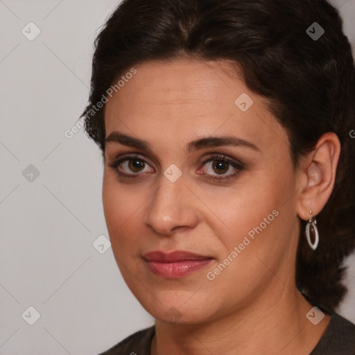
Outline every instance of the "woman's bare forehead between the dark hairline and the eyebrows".
[[265, 99], [246, 87], [230, 62], [145, 62], [135, 69], [106, 104], [106, 137], [119, 130], [152, 141], [165, 137], [170, 144], [172, 137], [182, 143], [231, 133], [265, 146], [275, 138], [288, 141]]

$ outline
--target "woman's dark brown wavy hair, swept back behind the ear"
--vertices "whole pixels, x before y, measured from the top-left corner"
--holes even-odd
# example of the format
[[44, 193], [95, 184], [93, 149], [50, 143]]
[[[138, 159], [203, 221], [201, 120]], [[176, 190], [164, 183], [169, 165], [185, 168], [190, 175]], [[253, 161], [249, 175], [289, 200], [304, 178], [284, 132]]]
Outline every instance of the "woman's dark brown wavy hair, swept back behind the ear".
[[[324, 34], [317, 40], [314, 22]], [[313, 28], [311, 27], [313, 26]], [[326, 0], [123, 0], [95, 41], [85, 132], [105, 152], [105, 105], [116, 80], [141, 62], [232, 60], [288, 132], [294, 166], [325, 132], [341, 153], [336, 182], [317, 216], [313, 252], [300, 219], [296, 284], [309, 302], [336, 309], [347, 291], [343, 259], [355, 247], [355, 73], [336, 8]], [[308, 31], [308, 32], [309, 32]], [[318, 30], [317, 30], [318, 31]]]

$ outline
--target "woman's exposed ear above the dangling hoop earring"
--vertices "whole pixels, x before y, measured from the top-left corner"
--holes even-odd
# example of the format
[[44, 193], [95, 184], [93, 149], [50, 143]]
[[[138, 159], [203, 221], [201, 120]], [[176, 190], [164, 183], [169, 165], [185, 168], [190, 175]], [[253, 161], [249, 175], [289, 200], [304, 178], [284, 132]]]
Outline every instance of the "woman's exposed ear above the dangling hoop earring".
[[303, 220], [309, 219], [309, 211], [313, 217], [317, 216], [329, 200], [336, 180], [340, 149], [338, 136], [327, 132], [300, 162], [296, 211]]

